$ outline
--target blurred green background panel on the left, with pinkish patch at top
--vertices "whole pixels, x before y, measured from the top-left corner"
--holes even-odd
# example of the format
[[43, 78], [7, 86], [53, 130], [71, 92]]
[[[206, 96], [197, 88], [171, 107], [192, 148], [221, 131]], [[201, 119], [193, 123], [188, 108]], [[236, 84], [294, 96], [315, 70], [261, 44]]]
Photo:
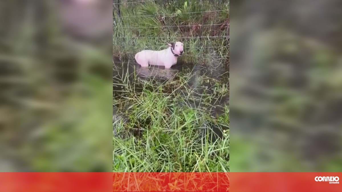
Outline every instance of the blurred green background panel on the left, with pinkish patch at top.
[[111, 171], [111, 3], [0, 2], [0, 171]]

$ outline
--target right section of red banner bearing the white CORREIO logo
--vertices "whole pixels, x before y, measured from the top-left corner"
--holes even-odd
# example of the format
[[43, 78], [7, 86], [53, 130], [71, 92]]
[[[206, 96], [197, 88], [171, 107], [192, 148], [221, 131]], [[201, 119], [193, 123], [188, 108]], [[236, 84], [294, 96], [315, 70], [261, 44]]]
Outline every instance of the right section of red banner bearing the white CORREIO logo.
[[[232, 192], [341, 192], [342, 173], [230, 173]], [[327, 178], [329, 177], [329, 179]], [[330, 183], [331, 182], [331, 183]]]

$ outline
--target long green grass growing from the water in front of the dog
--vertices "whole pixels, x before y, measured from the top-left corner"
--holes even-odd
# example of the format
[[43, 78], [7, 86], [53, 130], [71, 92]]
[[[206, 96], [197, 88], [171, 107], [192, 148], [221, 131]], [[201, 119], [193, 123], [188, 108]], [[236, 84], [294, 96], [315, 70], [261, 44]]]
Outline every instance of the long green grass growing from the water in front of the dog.
[[206, 94], [192, 88], [194, 75], [177, 73], [164, 82], [128, 71], [114, 77], [122, 87], [113, 102], [120, 116], [114, 122], [114, 172], [229, 171], [228, 105], [219, 115], [208, 113], [228, 87], [216, 81]]

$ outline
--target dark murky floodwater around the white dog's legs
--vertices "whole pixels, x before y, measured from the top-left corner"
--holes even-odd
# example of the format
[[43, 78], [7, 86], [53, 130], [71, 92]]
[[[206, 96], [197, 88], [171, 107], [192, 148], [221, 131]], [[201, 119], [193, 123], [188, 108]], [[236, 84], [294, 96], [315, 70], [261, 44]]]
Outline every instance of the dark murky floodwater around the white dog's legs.
[[[189, 75], [190, 74], [190, 75]], [[189, 76], [190, 80], [188, 81], [187, 87], [194, 90], [192, 93], [192, 99], [187, 100], [186, 103], [188, 106], [193, 108], [197, 107], [205, 107], [208, 113], [210, 113], [213, 117], [221, 115], [224, 113], [224, 107], [229, 105], [229, 94], [227, 95], [219, 95], [218, 97], [214, 96], [214, 99], [210, 102], [210, 104], [203, 104], [201, 102], [201, 97], [203, 94], [212, 94], [215, 95], [215, 88], [217, 86], [216, 82], [220, 82], [227, 85], [227, 89], [229, 89], [229, 69], [227, 69], [225, 63], [219, 63], [213, 61], [212, 63], [183, 63], [182, 61], [178, 61], [176, 65], [173, 65], [171, 69], [165, 69], [164, 67], [159, 66], [149, 66], [149, 68], [142, 68], [139, 64], [136, 63], [134, 59], [119, 59], [114, 58], [114, 66], [113, 66], [113, 97], [119, 97], [124, 91], [125, 86], [121, 79], [125, 79], [126, 77], [132, 82], [132, 79], [136, 75], [138, 78], [143, 80], [151, 80], [157, 82], [165, 82], [168, 80], [178, 80], [177, 78], [181, 76]], [[201, 80], [205, 77], [205, 80]], [[136, 92], [141, 92], [142, 87], [139, 85], [135, 86]], [[181, 92], [182, 90], [180, 90]], [[188, 93], [185, 93], [188, 94]], [[195, 99], [194, 99], [195, 98]], [[182, 105], [182, 103], [180, 103]], [[183, 103], [184, 105], [184, 103]], [[113, 106], [113, 127], [115, 126], [115, 122], [119, 119], [125, 119], [125, 117], [118, 112], [115, 106]], [[204, 124], [203, 126], [203, 134], [206, 134], [209, 130], [209, 136], [212, 141], [215, 141], [217, 138], [221, 138], [223, 136], [222, 129], [228, 129], [227, 127], [216, 127], [213, 124]], [[118, 133], [113, 129], [113, 134], [118, 136]], [[134, 132], [135, 136], [140, 136], [140, 132]]]

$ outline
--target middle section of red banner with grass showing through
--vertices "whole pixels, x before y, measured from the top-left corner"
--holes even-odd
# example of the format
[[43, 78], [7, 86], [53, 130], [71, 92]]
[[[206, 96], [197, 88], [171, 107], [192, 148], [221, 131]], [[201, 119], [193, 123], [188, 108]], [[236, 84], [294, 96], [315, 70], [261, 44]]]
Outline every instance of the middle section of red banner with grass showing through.
[[114, 173], [113, 191], [229, 191], [229, 173]]

